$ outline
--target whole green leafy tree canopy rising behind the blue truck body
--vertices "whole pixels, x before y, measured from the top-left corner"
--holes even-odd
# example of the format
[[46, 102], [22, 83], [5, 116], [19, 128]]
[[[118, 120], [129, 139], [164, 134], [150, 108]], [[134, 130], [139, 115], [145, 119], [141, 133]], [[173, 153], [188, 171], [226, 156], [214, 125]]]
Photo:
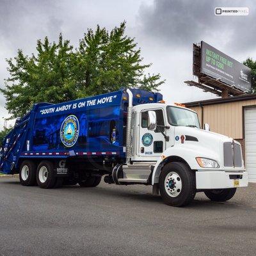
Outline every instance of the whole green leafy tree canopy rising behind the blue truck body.
[[6, 109], [11, 118], [23, 116], [36, 102], [59, 103], [120, 88], [157, 91], [163, 84], [159, 74], [145, 74], [151, 64], [143, 65], [134, 38], [125, 35], [125, 22], [112, 29], [88, 29], [78, 49], [63, 40], [37, 41], [36, 54], [6, 60], [10, 77], [6, 88]]

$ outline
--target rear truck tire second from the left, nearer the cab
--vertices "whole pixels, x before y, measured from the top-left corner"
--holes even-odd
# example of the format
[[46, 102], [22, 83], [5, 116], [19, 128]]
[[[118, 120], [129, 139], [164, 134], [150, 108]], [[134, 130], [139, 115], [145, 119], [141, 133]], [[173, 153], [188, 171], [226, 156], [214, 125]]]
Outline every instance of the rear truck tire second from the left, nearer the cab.
[[53, 188], [56, 184], [54, 165], [50, 161], [42, 161], [36, 170], [36, 181], [40, 188]]

